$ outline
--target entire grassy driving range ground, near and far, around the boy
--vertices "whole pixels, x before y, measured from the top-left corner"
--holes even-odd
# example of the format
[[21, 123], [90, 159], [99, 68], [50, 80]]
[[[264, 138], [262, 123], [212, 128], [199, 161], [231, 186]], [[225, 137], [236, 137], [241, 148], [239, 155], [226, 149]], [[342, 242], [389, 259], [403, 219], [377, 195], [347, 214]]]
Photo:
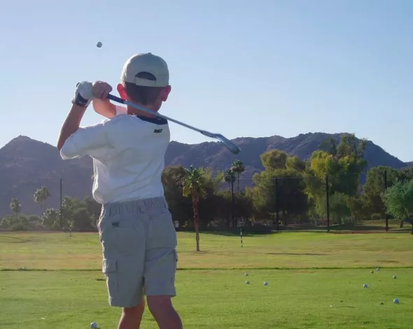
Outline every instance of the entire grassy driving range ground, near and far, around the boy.
[[[179, 232], [184, 328], [412, 327], [409, 234], [283, 232], [247, 235], [241, 248], [237, 236], [203, 233], [194, 249], [195, 235]], [[96, 233], [1, 233], [0, 328], [116, 328], [101, 264]], [[141, 328], [158, 328], [148, 311]]]

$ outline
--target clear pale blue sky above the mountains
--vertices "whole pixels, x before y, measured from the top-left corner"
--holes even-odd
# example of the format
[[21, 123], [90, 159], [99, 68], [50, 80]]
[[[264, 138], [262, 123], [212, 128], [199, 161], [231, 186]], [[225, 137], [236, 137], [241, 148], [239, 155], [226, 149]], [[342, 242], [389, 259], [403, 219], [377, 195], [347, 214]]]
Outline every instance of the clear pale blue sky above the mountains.
[[353, 132], [411, 161], [412, 18], [410, 0], [3, 1], [0, 146], [55, 144], [78, 81], [116, 85], [153, 52], [169, 64], [167, 116], [229, 138]]

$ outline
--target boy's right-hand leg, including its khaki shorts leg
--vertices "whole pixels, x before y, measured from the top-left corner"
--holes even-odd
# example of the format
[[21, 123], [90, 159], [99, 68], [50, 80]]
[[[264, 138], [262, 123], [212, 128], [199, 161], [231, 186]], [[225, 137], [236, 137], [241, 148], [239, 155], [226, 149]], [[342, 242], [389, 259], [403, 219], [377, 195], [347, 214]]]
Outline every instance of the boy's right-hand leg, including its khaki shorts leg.
[[164, 199], [153, 201], [146, 236], [144, 291], [148, 308], [160, 329], [181, 329], [182, 322], [172, 305], [175, 291], [176, 231]]

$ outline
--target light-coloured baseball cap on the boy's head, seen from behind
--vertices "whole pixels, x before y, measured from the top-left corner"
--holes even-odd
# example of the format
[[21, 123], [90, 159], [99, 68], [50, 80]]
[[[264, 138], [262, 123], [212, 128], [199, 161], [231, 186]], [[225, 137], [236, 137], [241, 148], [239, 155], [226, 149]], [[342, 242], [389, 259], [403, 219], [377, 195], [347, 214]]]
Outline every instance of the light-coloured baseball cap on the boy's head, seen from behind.
[[[144, 72], [151, 73], [154, 79], [139, 77], [139, 74]], [[167, 62], [161, 57], [151, 54], [151, 52], [133, 55], [127, 59], [123, 66], [120, 80], [146, 87], [166, 87], [169, 85]]]

